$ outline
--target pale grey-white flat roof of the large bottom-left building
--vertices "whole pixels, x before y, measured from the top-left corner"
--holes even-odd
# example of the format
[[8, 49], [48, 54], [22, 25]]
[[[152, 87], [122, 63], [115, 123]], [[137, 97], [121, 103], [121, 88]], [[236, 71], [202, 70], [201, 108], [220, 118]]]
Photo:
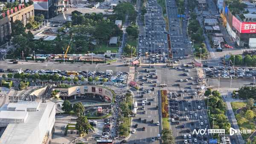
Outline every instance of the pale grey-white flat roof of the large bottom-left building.
[[[50, 114], [52, 112], [55, 112], [55, 104], [52, 102], [47, 103], [41, 103], [41, 102], [26, 102], [22, 104], [22, 107], [24, 109], [25, 104], [30, 106], [36, 106], [38, 104], [38, 110], [37, 111], [7, 111], [7, 107], [20, 107], [19, 103], [9, 103], [4, 104], [3, 107], [1, 107], [0, 111], [0, 117], [5, 117], [7, 119], [12, 118], [24, 118], [24, 116], [27, 115], [26, 121], [23, 123], [17, 123], [17, 122], [7, 122], [8, 125], [6, 129], [4, 130], [3, 134], [0, 135], [0, 143], [1, 144], [29, 144], [29, 140], [34, 140], [35, 144], [42, 143], [43, 139], [40, 137], [38, 138], [31, 138], [31, 135], [40, 135], [37, 132], [44, 133], [45, 131], [43, 129], [46, 129], [47, 124], [51, 123], [52, 121], [49, 121], [52, 118], [49, 118]], [[9, 115], [8, 115], [9, 114]], [[55, 115], [55, 113], [54, 113]], [[47, 118], [46, 120], [42, 118]], [[47, 121], [48, 120], [48, 121]], [[1, 123], [0, 124], [6, 124]], [[40, 127], [42, 126], [43, 127]]]

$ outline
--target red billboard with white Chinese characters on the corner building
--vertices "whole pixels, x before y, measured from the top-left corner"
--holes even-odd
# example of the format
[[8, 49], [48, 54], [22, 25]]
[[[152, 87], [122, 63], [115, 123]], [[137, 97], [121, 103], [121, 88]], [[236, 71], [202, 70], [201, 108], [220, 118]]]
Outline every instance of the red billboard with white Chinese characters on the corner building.
[[233, 16], [232, 26], [240, 33], [256, 33], [256, 22], [241, 22]]

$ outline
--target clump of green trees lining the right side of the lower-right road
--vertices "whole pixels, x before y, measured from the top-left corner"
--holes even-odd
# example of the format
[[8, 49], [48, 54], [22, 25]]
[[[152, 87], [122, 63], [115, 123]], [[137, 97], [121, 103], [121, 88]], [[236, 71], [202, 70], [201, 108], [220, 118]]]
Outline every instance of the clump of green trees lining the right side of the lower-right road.
[[[207, 107], [209, 110], [210, 127], [214, 129], [225, 129], [225, 132], [229, 132], [231, 125], [225, 115], [226, 103], [223, 101], [221, 94], [216, 90], [212, 91], [212, 89], [207, 89], [204, 95], [209, 98]], [[212, 118], [215, 119], [214, 125]], [[214, 136], [215, 138], [218, 137], [218, 135]]]

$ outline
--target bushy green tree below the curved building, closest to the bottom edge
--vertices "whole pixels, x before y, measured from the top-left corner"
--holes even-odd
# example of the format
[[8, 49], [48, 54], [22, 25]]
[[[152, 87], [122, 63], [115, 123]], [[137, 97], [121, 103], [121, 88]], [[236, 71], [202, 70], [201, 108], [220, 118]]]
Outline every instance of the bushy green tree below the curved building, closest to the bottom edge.
[[89, 121], [87, 120], [86, 116], [79, 116], [76, 119], [76, 130], [79, 131], [79, 134], [84, 134], [84, 133], [89, 133], [90, 129], [90, 124]]

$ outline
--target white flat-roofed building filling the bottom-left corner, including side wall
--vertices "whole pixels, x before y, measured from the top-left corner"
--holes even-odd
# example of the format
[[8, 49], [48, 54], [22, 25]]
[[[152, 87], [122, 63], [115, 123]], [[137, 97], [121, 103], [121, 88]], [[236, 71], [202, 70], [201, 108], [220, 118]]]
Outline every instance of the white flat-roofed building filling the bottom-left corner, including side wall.
[[52, 102], [19, 102], [0, 108], [1, 144], [48, 144], [55, 123]]

